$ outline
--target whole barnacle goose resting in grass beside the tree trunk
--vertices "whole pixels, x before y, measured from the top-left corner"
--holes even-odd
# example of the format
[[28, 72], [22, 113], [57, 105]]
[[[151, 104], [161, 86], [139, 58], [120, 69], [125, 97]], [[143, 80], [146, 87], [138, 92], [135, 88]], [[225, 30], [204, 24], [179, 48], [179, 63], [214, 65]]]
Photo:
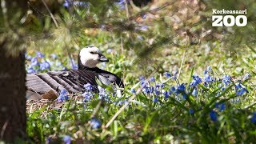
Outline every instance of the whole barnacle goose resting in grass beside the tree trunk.
[[[121, 78], [106, 70], [99, 69], [99, 62], [109, 60], [95, 46], [87, 46], [78, 55], [78, 70], [50, 71], [41, 74], [26, 74], [26, 89], [39, 94], [46, 94], [53, 90], [55, 94], [66, 89], [70, 93], [84, 90], [83, 86], [90, 83], [98, 91], [96, 78], [109, 86], [124, 87]], [[27, 93], [28, 97], [28, 93]]]

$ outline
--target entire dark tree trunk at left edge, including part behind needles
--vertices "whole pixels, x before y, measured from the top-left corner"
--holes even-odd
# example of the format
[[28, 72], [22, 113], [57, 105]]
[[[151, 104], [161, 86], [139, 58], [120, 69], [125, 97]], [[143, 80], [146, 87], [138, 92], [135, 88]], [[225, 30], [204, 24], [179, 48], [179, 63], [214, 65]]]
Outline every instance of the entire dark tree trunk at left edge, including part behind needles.
[[0, 2], [0, 140], [14, 142], [15, 138], [26, 138], [26, 70], [24, 50], [20, 49], [24, 44], [22, 34], [15, 35], [10, 28], [21, 30], [20, 19], [26, 14], [27, 0]]

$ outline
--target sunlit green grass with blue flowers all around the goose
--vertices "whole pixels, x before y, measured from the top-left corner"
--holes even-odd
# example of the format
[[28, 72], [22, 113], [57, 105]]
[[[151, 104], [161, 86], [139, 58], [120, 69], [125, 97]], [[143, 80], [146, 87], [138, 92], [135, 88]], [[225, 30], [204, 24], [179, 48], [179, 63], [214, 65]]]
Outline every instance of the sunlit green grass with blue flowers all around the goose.
[[[73, 7], [74, 15], [63, 9], [60, 28], [50, 38], [30, 42], [28, 55], [46, 54], [32, 69], [70, 69], [69, 51], [75, 62], [80, 48], [98, 46], [110, 59], [99, 67], [122, 78], [125, 89], [121, 95], [107, 87], [100, 94], [68, 94], [64, 102], [27, 102], [29, 142], [255, 142], [255, 47], [238, 45], [240, 40], [229, 36], [240, 35], [231, 28], [222, 34], [224, 28], [209, 27], [210, 17], [201, 8], [168, 5], [152, 14], [143, 11], [149, 7], [112, 7], [114, 13], [96, 4], [86, 10]], [[212, 33], [202, 37], [208, 28]], [[42, 62], [50, 67], [40, 69]]]

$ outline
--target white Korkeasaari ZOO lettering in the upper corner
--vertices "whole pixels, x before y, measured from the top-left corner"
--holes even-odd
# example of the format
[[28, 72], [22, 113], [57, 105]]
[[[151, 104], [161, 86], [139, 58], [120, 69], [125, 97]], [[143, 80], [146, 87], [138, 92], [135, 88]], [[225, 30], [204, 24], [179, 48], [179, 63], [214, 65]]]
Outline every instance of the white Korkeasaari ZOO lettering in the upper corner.
[[[247, 25], [247, 10], [213, 10], [211, 19], [212, 26], [246, 26]], [[222, 14], [225, 14], [224, 16]], [[238, 14], [237, 16], [231, 14]]]

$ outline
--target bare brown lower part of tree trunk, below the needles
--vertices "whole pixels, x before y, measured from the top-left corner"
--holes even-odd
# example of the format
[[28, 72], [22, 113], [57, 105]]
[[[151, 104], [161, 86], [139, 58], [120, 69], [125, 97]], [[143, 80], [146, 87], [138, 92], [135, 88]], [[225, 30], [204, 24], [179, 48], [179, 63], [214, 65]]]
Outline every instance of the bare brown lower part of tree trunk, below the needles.
[[13, 142], [26, 137], [25, 58], [6, 54], [0, 43], [0, 139]]

